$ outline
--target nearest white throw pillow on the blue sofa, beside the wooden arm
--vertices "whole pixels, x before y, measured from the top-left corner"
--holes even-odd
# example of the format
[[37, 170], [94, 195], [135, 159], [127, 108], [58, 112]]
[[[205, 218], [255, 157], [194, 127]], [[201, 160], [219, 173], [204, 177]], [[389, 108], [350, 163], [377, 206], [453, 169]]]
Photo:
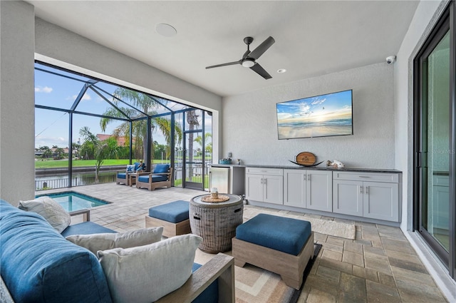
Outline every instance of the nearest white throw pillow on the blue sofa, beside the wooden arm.
[[192, 274], [197, 235], [98, 252], [114, 303], [150, 303], [181, 287]]

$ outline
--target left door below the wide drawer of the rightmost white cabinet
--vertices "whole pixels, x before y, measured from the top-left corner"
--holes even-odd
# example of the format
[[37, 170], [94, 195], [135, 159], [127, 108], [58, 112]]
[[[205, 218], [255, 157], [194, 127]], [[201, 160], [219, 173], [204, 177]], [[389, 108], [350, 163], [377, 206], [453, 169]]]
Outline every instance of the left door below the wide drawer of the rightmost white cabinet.
[[333, 180], [333, 212], [363, 216], [363, 183]]

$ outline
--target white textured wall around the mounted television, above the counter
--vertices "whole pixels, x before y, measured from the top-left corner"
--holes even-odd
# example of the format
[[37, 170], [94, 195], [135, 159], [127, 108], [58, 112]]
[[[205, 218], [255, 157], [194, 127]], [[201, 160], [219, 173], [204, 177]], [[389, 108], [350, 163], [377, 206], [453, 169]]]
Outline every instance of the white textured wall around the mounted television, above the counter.
[[[278, 140], [276, 103], [353, 89], [353, 135]], [[223, 98], [222, 158], [294, 165], [309, 151], [350, 167], [395, 168], [393, 66], [377, 63]]]

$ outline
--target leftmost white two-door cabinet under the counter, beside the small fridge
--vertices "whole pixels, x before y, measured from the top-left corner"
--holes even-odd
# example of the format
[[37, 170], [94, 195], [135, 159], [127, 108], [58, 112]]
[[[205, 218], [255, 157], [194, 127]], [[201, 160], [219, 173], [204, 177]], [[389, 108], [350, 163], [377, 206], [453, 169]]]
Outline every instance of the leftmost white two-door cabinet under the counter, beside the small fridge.
[[246, 199], [283, 205], [284, 170], [281, 168], [246, 168]]

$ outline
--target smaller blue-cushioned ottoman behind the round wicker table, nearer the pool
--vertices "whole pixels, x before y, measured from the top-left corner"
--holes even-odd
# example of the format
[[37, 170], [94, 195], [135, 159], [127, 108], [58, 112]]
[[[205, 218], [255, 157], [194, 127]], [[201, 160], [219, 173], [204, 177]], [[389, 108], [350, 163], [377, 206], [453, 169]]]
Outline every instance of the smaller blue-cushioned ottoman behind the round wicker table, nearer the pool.
[[163, 237], [190, 234], [187, 201], [174, 201], [149, 208], [145, 217], [145, 227], [163, 227]]

